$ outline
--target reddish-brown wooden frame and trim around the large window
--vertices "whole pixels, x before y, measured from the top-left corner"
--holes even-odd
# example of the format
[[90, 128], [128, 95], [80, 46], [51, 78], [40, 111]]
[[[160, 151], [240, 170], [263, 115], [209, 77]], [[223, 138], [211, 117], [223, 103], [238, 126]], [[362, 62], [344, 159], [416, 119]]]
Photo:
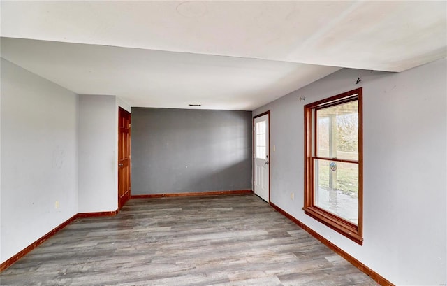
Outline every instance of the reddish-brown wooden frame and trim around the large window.
[[[336, 106], [349, 101], [358, 101], [358, 161], [348, 159], [330, 158], [337, 162], [346, 163], [358, 163], [358, 224], [353, 224], [348, 220], [344, 220], [342, 217], [338, 217], [333, 213], [330, 213], [322, 208], [318, 208], [314, 204], [314, 159], [328, 159], [327, 157], [317, 157], [312, 154], [312, 147], [316, 151], [316, 145], [312, 146], [312, 143], [316, 144], [313, 136], [316, 134], [312, 130], [312, 125], [316, 126], [315, 122], [312, 122], [312, 114], [315, 110], [321, 108], [328, 108], [330, 106]], [[362, 87], [331, 96], [328, 99], [309, 103], [305, 106], [305, 206], [303, 210], [305, 214], [313, 217], [318, 222], [325, 224], [326, 226], [334, 229], [339, 234], [346, 236], [352, 241], [362, 245], [363, 243], [363, 119], [362, 119]], [[316, 116], [315, 116], [316, 117]], [[314, 120], [316, 118], [314, 117]]]

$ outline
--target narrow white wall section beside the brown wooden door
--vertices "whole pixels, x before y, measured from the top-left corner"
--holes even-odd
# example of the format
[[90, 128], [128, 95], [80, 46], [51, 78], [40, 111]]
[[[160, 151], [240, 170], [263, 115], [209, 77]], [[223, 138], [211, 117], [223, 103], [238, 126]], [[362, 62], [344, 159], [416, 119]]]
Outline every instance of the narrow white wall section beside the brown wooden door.
[[79, 213], [118, 208], [115, 96], [79, 96]]

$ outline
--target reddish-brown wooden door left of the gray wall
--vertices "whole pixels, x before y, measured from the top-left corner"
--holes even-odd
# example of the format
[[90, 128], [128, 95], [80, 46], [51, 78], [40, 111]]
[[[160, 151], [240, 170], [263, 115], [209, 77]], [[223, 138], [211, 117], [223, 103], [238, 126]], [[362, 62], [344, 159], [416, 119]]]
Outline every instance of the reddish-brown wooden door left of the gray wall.
[[119, 108], [118, 209], [131, 197], [131, 113]]

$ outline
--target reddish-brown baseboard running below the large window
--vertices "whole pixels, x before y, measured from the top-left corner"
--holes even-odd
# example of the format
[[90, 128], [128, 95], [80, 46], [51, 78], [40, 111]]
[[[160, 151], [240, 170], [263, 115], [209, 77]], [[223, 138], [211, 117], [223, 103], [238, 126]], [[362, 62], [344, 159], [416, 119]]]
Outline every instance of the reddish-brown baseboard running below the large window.
[[306, 224], [303, 224], [302, 222], [297, 220], [292, 215], [286, 213], [286, 211], [281, 209], [281, 208], [279, 208], [279, 206], [275, 205], [272, 202], [270, 202], [270, 206], [272, 206], [272, 208], [277, 210], [278, 213], [281, 213], [281, 215], [284, 215], [285, 217], [287, 217], [292, 222], [295, 222], [295, 224], [297, 224], [299, 227], [301, 227], [302, 229], [307, 231], [310, 235], [314, 236], [314, 238], [318, 239], [318, 241], [321, 241], [321, 243], [323, 243], [328, 248], [333, 250], [335, 253], [337, 253], [338, 255], [343, 257], [344, 259], [346, 259], [348, 262], [353, 264], [353, 266], [356, 266], [358, 269], [360, 269], [360, 271], [362, 271], [367, 276], [371, 277], [374, 281], [376, 281], [376, 283], [379, 283], [380, 285], [383, 285], [383, 286], [395, 286], [393, 283], [390, 283], [390, 281], [388, 281], [385, 278], [383, 278], [382, 276], [380, 276], [378, 273], [376, 273], [375, 271], [370, 269], [368, 266], [366, 266], [365, 264], [362, 264], [362, 262], [358, 261], [356, 258], [352, 257], [347, 252], [345, 252], [344, 250], [339, 248], [337, 245], [335, 245], [334, 243], [331, 243], [326, 238], [324, 238], [323, 236], [321, 236], [318, 233], [316, 233], [316, 231], [314, 231], [310, 227], [307, 227]]

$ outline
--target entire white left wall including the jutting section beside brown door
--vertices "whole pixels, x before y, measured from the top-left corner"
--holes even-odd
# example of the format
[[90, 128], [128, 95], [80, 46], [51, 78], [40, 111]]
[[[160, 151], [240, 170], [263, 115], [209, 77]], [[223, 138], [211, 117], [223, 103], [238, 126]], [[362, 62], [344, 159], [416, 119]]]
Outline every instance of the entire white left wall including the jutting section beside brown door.
[[1, 59], [1, 262], [76, 213], [117, 209], [119, 106]]

